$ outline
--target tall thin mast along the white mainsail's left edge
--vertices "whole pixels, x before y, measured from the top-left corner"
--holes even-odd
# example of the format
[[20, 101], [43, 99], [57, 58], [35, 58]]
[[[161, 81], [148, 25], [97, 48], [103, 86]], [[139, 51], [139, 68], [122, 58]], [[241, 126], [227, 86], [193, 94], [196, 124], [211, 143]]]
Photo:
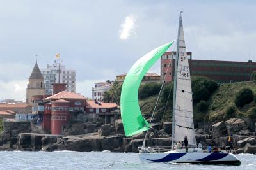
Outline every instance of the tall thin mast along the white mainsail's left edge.
[[182, 22], [181, 20], [181, 13], [180, 11], [180, 17], [179, 17], [179, 29], [178, 29], [178, 37], [177, 37], [177, 50], [176, 50], [176, 59], [175, 59], [175, 68], [174, 68], [174, 87], [173, 87], [173, 106], [172, 106], [172, 149], [174, 146], [174, 128], [175, 128], [175, 106], [176, 106], [176, 89], [177, 89], [177, 71], [178, 71], [178, 60], [179, 60], [179, 46], [180, 46], [180, 24]]

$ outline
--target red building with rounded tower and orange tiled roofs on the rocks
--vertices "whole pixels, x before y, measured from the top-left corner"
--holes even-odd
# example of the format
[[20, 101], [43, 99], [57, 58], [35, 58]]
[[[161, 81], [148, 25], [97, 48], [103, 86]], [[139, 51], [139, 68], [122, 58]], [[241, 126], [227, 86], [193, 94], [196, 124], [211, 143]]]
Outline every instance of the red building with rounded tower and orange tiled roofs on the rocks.
[[[58, 92], [58, 91], [57, 91]], [[42, 129], [51, 131], [51, 134], [61, 134], [63, 126], [72, 123], [77, 114], [88, 119], [104, 117], [111, 122], [116, 116], [118, 105], [115, 103], [98, 103], [87, 101], [86, 97], [75, 92], [62, 91], [43, 99], [44, 114]]]

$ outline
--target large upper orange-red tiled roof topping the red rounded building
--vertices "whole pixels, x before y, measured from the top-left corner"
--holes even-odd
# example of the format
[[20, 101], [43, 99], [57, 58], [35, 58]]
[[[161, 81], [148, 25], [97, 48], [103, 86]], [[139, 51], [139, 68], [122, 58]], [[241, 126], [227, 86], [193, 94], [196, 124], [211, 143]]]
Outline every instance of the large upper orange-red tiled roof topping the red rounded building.
[[75, 92], [63, 91], [45, 98], [44, 101], [51, 100], [51, 99], [86, 99], [86, 97], [80, 94], [77, 94]]

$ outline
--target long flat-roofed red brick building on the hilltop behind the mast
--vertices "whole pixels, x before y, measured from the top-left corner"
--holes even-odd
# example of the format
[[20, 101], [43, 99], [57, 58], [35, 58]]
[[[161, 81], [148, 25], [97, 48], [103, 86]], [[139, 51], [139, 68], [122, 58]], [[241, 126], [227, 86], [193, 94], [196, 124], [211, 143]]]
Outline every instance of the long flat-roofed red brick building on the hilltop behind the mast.
[[[252, 72], [256, 70], [256, 62], [193, 60], [191, 52], [187, 55], [191, 76], [205, 76], [219, 83], [250, 81]], [[161, 81], [165, 75], [165, 81], [173, 80], [175, 57], [176, 52], [165, 52], [161, 57]]]

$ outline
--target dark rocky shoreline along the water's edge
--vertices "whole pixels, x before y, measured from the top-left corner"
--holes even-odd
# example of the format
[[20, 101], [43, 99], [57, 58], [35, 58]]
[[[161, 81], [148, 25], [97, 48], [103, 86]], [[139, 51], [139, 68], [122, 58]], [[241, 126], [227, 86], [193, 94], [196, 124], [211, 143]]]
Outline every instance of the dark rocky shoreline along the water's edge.
[[[146, 146], [171, 146], [172, 122], [156, 122], [148, 133]], [[203, 146], [233, 146], [236, 153], [256, 153], [255, 122], [232, 118], [214, 125], [202, 124], [195, 129], [196, 141]], [[228, 141], [228, 136], [232, 136]], [[138, 152], [145, 132], [125, 137], [121, 120], [114, 125], [101, 122], [80, 122], [66, 127], [64, 135], [44, 134], [30, 122], [5, 122], [0, 135], [0, 150], [79, 152]]]

